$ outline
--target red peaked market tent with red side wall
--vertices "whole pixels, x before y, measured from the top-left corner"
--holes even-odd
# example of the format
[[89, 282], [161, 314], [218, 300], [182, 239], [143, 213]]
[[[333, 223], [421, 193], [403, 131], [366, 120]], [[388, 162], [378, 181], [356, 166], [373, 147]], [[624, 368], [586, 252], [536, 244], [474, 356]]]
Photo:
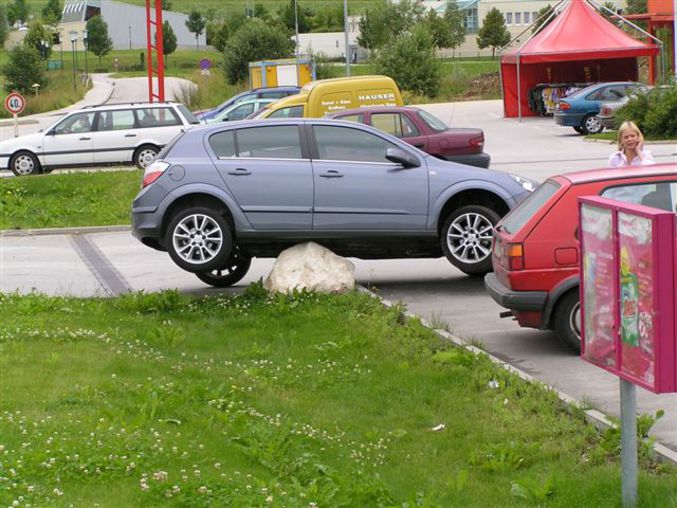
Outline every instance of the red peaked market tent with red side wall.
[[635, 59], [657, 53], [655, 45], [633, 39], [585, 0], [571, 0], [541, 32], [501, 56], [505, 116], [535, 115], [528, 92], [537, 83], [636, 80]]

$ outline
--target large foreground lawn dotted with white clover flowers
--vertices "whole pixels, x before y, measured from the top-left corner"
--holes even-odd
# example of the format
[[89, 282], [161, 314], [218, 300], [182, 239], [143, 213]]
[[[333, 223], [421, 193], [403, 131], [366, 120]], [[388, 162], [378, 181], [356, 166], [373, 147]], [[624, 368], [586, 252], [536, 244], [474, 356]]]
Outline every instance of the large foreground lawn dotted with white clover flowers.
[[[617, 432], [402, 310], [259, 285], [0, 295], [0, 503], [620, 505]], [[675, 505], [641, 449], [639, 506]]]

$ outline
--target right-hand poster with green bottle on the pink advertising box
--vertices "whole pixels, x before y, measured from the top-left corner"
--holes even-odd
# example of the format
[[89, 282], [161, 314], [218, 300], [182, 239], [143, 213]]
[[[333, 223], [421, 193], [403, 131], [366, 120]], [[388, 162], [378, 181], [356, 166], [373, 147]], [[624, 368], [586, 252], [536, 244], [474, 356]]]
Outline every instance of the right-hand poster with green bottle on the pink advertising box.
[[618, 213], [621, 370], [654, 384], [654, 266], [650, 218]]

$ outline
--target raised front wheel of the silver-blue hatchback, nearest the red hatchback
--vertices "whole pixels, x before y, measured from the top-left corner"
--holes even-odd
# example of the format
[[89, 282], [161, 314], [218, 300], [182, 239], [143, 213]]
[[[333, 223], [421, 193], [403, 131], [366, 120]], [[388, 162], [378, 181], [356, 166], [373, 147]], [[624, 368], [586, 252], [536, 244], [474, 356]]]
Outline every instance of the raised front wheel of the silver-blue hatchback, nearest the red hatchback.
[[468, 275], [491, 271], [491, 242], [501, 217], [491, 208], [469, 205], [444, 221], [440, 241], [447, 259]]

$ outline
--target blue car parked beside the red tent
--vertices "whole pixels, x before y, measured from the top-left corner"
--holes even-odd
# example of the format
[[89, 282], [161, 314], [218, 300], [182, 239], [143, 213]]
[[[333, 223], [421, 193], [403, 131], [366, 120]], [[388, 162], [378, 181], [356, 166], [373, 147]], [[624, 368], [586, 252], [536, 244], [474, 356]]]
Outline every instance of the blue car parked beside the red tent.
[[617, 101], [642, 88], [646, 85], [633, 81], [597, 83], [583, 88], [557, 103], [555, 123], [573, 127], [579, 134], [602, 132], [604, 125], [597, 117], [602, 104]]

